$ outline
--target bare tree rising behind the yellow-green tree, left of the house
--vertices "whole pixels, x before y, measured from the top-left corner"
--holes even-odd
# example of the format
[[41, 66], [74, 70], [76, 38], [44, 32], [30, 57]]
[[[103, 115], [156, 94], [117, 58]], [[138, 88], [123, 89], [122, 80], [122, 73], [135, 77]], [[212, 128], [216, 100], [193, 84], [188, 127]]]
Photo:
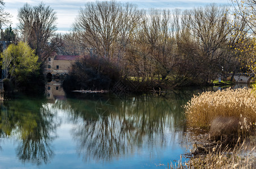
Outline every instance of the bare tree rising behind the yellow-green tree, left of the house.
[[57, 16], [50, 6], [40, 3], [32, 7], [26, 3], [19, 9], [18, 19], [23, 40], [36, 50], [41, 61], [59, 46], [60, 38], [55, 33]]

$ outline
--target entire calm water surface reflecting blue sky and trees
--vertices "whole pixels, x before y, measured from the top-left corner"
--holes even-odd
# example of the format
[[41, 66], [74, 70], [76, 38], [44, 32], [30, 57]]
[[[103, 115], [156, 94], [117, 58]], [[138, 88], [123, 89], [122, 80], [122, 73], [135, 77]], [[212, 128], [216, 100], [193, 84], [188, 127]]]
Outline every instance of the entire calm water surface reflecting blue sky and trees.
[[166, 168], [188, 152], [181, 105], [202, 91], [72, 99], [58, 83], [46, 90], [1, 104], [0, 168]]

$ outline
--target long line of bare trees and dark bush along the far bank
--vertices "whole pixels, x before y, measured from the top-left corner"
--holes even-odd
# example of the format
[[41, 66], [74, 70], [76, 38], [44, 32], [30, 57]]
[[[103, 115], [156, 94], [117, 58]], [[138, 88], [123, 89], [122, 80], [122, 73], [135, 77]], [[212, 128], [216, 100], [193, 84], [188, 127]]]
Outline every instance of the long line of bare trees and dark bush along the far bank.
[[[234, 6], [241, 3], [232, 2]], [[246, 64], [241, 56], [246, 53], [237, 49], [244, 47], [241, 42], [254, 42], [247, 34], [253, 24], [246, 12], [236, 8], [235, 12], [215, 4], [170, 11], [96, 1], [80, 9], [70, 33], [57, 34], [56, 12], [44, 3], [26, 3], [18, 12], [19, 33], [14, 34], [10, 26], [1, 32], [1, 39], [26, 42], [38, 56], [41, 69], [53, 52], [86, 56], [70, 70], [69, 79], [79, 83], [77, 89], [111, 88], [120, 79], [144, 90], [204, 85], [219, 75], [248, 70], [241, 70]], [[98, 69], [104, 67], [111, 71]]]

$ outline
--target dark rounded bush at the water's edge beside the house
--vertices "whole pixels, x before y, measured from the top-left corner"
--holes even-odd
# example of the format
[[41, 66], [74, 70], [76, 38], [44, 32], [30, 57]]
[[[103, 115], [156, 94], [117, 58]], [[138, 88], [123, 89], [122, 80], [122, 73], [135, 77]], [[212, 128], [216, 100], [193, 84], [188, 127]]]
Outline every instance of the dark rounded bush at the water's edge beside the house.
[[119, 78], [118, 68], [108, 60], [88, 55], [72, 65], [63, 85], [67, 90], [109, 90]]

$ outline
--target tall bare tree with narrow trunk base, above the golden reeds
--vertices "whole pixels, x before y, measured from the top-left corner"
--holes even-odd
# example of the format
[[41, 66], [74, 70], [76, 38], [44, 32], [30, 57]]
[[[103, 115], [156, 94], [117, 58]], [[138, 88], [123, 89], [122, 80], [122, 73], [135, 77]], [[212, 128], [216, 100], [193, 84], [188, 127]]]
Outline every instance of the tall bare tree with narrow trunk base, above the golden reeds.
[[204, 8], [199, 7], [186, 15], [194, 42], [201, 50], [202, 77], [210, 82], [222, 71], [225, 60], [225, 48], [228, 46], [228, 10], [226, 7], [211, 4]]

